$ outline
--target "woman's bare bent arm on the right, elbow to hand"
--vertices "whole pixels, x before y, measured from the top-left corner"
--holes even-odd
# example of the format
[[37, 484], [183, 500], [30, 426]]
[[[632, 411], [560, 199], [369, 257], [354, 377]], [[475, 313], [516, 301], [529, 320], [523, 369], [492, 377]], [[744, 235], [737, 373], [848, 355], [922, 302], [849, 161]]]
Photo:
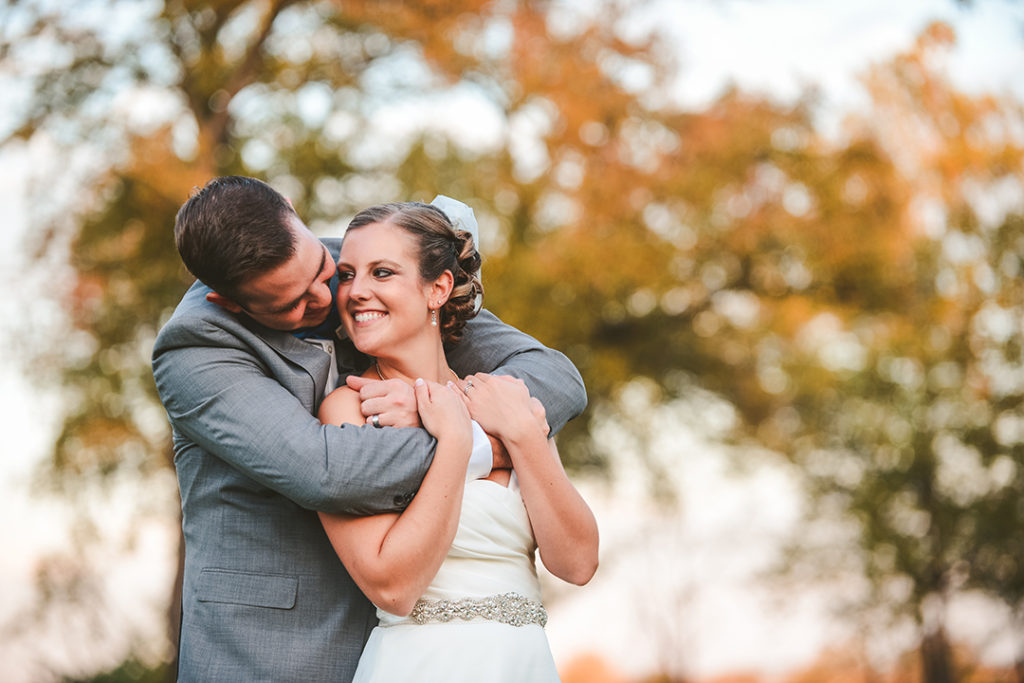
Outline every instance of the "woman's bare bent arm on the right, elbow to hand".
[[597, 570], [597, 521], [562, 468], [547, 424], [519, 380], [478, 374], [465, 393], [469, 412], [502, 440], [519, 478], [541, 559], [551, 573], [583, 586]]

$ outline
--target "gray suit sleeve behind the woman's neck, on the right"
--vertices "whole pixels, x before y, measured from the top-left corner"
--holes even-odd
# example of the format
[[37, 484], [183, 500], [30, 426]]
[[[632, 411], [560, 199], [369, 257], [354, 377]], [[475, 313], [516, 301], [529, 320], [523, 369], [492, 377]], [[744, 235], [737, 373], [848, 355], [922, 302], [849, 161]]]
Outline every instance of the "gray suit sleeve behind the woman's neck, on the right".
[[518, 377], [547, 412], [552, 435], [587, 408], [587, 390], [575, 366], [559, 351], [481, 310], [466, 325], [465, 337], [447, 352], [461, 377], [493, 373]]

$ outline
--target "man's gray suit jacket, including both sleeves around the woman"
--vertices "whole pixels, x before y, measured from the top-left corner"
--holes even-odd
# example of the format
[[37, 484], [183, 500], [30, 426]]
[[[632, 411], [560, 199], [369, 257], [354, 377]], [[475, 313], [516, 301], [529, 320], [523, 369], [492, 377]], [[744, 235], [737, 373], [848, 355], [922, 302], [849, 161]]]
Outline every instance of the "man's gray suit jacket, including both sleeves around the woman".
[[[324, 242], [337, 258], [341, 241]], [[153, 355], [185, 539], [178, 678], [349, 681], [376, 616], [314, 511], [403, 508], [433, 440], [421, 429], [321, 425], [330, 356], [207, 302], [209, 291], [188, 290]], [[586, 405], [565, 356], [486, 311], [449, 359], [460, 375], [522, 378], [553, 431]], [[351, 362], [339, 358], [343, 377]]]

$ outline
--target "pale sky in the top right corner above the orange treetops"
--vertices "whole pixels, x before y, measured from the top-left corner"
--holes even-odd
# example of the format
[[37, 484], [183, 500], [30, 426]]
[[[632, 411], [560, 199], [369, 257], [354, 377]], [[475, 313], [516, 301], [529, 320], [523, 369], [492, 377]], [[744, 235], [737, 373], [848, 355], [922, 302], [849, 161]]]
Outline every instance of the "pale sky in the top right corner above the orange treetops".
[[843, 2], [842, 0], [664, 0], [658, 20], [680, 36], [684, 102], [702, 104], [724, 81], [794, 98], [814, 84], [826, 100], [862, 103], [856, 77], [906, 50], [933, 20], [952, 25], [957, 47], [950, 71], [969, 92], [1014, 90], [1024, 98], [1024, 6], [980, 0]]

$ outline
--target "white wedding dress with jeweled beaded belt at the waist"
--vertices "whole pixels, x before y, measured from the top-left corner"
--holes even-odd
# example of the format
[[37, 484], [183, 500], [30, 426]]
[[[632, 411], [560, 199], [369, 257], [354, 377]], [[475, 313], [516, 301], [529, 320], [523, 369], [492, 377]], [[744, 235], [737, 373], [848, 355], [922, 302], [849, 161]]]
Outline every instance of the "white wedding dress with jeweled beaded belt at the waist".
[[544, 683], [558, 673], [515, 476], [466, 484], [459, 530], [409, 616], [377, 610], [353, 683]]

